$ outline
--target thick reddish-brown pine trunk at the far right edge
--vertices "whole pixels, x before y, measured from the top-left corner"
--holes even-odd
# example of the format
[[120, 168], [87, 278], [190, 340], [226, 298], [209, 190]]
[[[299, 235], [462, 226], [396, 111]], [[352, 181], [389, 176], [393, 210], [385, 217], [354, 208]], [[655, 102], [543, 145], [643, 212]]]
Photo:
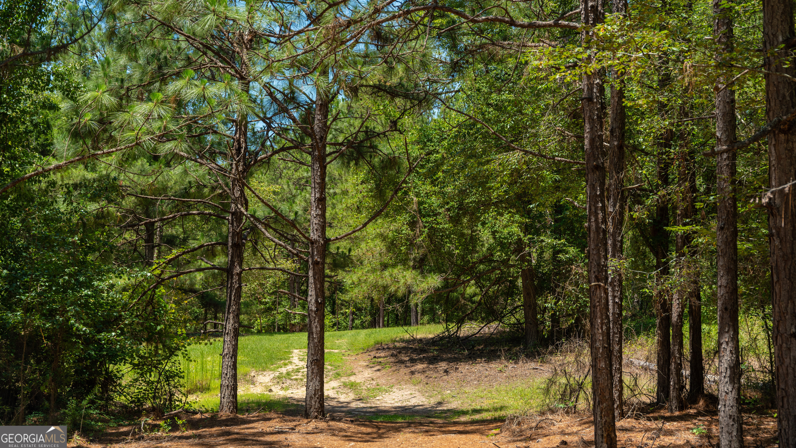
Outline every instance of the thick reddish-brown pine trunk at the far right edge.
[[[794, 4], [789, 0], [763, 0], [764, 49], [771, 51], [792, 41]], [[796, 109], [796, 92], [790, 64], [793, 53], [779, 50], [765, 58], [766, 107], [768, 120]], [[778, 128], [768, 137], [768, 182], [771, 189], [768, 208], [769, 248], [771, 253], [772, 338], [777, 375], [777, 422], [779, 446], [796, 447], [796, 213], [793, 187], [781, 188], [796, 180], [796, 134], [794, 124]]]

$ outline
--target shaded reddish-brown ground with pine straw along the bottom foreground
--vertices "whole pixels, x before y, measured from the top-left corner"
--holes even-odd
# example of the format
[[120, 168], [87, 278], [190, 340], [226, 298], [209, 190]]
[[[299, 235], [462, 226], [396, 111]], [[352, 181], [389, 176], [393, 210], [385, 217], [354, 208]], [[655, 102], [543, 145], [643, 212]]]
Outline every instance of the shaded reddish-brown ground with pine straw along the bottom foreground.
[[[102, 448], [587, 448], [594, 446], [594, 426], [588, 415], [544, 415], [523, 419], [521, 425], [502, 421], [444, 421], [416, 419], [379, 422], [363, 419], [306, 420], [267, 413], [255, 415], [183, 415], [182, 428], [170, 433], [152, 431], [158, 422], [113, 428], [102, 437], [69, 446]], [[693, 433], [694, 427], [704, 431]], [[618, 446], [636, 448], [708, 448], [715, 446], [718, 421], [715, 412], [684, 411], [668, 414], [661, 409], [638, 419], [617, 423]], [[775, 448], [776, 423], [771, 415], [743, 415], [744, 446]]]

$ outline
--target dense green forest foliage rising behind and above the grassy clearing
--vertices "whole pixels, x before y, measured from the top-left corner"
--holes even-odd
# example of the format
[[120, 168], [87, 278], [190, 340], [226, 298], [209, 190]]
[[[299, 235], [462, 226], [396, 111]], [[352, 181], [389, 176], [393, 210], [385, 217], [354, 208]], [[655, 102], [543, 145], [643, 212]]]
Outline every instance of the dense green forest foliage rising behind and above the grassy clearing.
[[[591, 337], [590, 76], [611, 312], [624, 338], [656, 340], [659, 366], [692, 368], [688, 388], [659, 369], [654, 401], [700, 395], [719, 353], [722, 181], [702, 153], [722, 92], [730, 142], [771, 121], [763, 8], [585, 9], [3, 0], [0, 419], [170, 411], [179, 356], [213, 333], [233, 410], [240, 327], [308, 331], [321, 411], [325, 332], [498, 324], [531, 351]], [[745, 398], [773, 403], [761, 198], [782, 185], [763, 136], [729, 182]]]

